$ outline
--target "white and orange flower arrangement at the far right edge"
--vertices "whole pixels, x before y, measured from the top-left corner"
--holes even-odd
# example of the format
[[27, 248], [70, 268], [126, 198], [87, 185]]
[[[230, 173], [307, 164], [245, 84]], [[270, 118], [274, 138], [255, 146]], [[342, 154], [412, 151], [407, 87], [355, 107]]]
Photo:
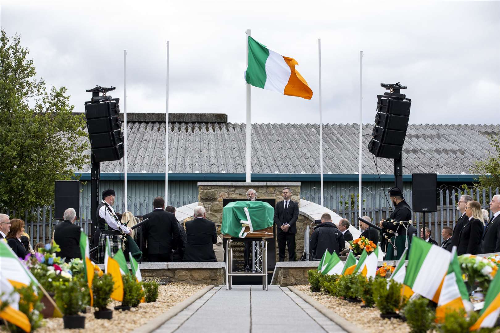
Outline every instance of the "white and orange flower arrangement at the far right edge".
[[466, 276], [466, 284], [469, 292], [473, 290], [474, 284], [477, 284], [483, 292], [486, 292], [489, 283], [498, 271], [498, 266], [486, 258], [469, 254], [459, 256], [458, 262], [460, 263], [462, 273]]

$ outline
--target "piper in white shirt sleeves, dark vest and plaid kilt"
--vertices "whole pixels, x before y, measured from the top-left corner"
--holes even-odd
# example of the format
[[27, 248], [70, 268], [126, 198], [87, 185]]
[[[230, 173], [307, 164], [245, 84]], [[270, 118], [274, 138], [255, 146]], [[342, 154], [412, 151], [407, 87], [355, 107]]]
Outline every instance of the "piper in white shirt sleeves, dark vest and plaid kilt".
[[[132, 230], [122, 224], [113, 210], [116, 195], [113, 190], [107, 189], [102, 192], [102, 202], [97, 206], [97, 230], [94, 240], [97, 240], [96, 261], [104, 263], [104, 252], [106, 247], [106, 236], [109, 236], [109, 247], [113, 256], [121, 247], [121, 233], [129, 235]], [[95, 244], [95, 243], [94, 243]]]

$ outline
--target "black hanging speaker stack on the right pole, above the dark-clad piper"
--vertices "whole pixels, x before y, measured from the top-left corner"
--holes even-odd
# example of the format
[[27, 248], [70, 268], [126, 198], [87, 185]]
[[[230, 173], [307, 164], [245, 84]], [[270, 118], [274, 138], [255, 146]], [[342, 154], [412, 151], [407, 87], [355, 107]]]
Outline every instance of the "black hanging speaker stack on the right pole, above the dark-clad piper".
[[368, 151], [376, 157], [398, 159], [408, 129], [411, 101], [403, 94], [377, 95], [377, 113]]

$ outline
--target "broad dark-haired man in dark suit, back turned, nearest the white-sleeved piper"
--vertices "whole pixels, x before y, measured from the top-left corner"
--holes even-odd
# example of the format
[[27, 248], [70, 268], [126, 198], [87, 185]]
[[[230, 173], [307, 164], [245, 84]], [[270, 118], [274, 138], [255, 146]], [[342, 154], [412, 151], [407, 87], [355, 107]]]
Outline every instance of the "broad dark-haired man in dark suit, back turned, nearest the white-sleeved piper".
[[154, 210], [142, 217], [145, 222], [142, 237], [147, 243], [146, 252], [149, 261], [172, 261], [172, 250], [181, 244], [178, 222], [175, 215], [165, 212], [165, 200], [156, 197], [153, 200]]

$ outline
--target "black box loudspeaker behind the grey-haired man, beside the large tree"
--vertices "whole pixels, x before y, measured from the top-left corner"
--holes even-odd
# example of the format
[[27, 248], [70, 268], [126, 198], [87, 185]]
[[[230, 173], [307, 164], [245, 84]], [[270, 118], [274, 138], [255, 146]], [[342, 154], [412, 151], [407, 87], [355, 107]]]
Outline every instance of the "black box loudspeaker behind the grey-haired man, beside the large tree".
[[76, 219], [80, 218], [80, 182], [77, 180], [56, 180], [54, 198], [54, 220], [64, 220], [64, 211], [74, 208]]

